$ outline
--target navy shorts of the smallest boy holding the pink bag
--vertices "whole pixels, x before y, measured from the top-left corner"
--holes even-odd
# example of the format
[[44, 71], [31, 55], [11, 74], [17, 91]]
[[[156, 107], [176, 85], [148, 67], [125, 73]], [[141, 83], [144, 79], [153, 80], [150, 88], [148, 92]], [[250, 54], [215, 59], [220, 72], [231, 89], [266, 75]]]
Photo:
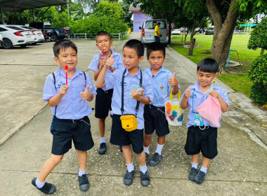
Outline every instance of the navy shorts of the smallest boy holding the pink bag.
[[200, 130], [198, 126], [188, 127], [185, 153], [188, 155], [196, 155], [201, 151], [205, 158], [215, 158], [216, 155], [218, 155], [217, 135], [217, 127], [209, 127], [204, 130]]

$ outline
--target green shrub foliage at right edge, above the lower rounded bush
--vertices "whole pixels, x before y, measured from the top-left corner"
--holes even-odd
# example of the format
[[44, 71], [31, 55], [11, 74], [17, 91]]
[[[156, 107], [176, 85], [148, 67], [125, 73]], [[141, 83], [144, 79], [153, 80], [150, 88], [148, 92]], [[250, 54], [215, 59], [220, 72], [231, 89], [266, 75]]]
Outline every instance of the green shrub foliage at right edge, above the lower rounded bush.
[[[267, 50], [267, 17], [252, 31], [247, 48], [256, 50], [261, 48]], [[262, 54], [263, 55], [263, 54]]]

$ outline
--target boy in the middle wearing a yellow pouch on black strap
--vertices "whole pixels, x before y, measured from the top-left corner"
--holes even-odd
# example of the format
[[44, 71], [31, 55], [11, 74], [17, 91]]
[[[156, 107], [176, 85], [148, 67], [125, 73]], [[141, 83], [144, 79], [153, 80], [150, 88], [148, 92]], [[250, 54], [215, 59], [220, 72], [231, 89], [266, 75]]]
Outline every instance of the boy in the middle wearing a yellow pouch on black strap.
[[[112, 60], [108, 59], [96, 80], [96, 87], [107, 87], [114, 89], [112, 96], [112, 127], [110, 143], [122, 146], [125, 162], [127, 165], [124, 175], [124, 184], [130, 186], [133, 183], [135, 173], [132, 159], [132, 151], [136, 153], [139, 162], [141, 185], [150, 184], [148, 167], [145, 163], [145, 153], [143, 151], [143, 107], [153, 99], [152, 79], [148, 73], [141, 71], [139, 63], [143, 61], [144, 46], [141, 41], [131, 39], [124, 44], [122, 59], [126, 69], [119, 69], [113, 73], [107, 73], [112, 65]], [[123, 115], [131, 114], [132, 121], [126, 121], [126, 125], [133, 125], [137, 121], [137, 126], [131, 132], [122, 128]], [[124, 122], [124, 121], [123, 121]], [[126, 126], [127, 127], [127, 126]], [[126, 128], [125, 127], [125, 128]]]

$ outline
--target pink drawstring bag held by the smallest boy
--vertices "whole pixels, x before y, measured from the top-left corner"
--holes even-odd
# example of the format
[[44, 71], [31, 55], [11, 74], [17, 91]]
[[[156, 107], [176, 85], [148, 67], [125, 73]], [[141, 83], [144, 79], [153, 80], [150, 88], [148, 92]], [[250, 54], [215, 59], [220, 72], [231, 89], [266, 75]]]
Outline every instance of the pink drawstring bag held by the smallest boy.
[[221, 105], [219, 100], [211, 95], [197, 108], [195, 111], [200, 113], [200, 116], [209, 120], [212, 125], [219, 127], [219, 119], [221, 117]]

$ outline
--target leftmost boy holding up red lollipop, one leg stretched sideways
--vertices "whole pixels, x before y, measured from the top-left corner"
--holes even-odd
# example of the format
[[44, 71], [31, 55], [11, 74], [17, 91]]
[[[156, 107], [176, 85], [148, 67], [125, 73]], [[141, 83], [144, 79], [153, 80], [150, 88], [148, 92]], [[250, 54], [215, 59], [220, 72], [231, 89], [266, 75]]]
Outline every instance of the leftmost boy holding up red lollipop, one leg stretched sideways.
[[[87, 102], [93, 100], [95, 87], [87, 73], [76, 69], [77, 46], [68, 40], [57, 41], [53, 45], [54, 60], [60, 68], [46, 78], [44, 101], [51, 106], [56, 116], [53, 124], [52, 155], [41, 168], [38, 178], [32, 179], [32, 185], [45, 194], [56, 193], [56, 186], [46, 183], [46, 177], [60, 163], [67, 151], [72, 148], [72, 141], [78, 154], [79, 188], [89, 189], [86, 176], [87, 151], [93, 148], [91, 124], [88, 118], [92, 109]], [[66, 85], [66, 71], [67, 81]]]

